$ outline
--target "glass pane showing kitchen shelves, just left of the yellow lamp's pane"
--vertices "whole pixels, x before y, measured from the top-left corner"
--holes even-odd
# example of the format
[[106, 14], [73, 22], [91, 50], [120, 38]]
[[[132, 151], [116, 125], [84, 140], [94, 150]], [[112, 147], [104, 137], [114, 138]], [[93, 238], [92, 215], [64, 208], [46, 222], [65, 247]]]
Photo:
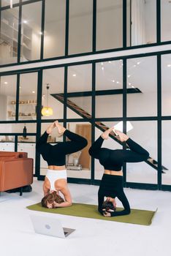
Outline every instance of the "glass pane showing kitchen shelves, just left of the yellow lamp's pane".
[[20, 75], [19, 120], [37, 117], [37, 72]]

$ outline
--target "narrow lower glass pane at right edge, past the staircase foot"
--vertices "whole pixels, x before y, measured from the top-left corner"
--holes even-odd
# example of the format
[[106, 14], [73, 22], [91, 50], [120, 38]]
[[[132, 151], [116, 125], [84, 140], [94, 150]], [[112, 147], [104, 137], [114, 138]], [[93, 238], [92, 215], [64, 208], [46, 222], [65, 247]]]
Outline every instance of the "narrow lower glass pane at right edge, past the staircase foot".
[[161, 176], [161, 184], [171, 185], [171, 163], [170, 163], [170, 151], [171, 151], [171, 121], [162, 121], [162, 167], [163, 173]]

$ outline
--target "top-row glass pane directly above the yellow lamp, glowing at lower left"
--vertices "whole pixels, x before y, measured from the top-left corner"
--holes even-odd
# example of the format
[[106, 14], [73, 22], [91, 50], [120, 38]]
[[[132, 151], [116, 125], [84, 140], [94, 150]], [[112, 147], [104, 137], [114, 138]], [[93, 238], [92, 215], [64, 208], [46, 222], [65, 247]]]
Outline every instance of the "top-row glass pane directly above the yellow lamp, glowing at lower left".
[[65, 53], [65, 3], [64, 0], [45, 1], [44, 58]]

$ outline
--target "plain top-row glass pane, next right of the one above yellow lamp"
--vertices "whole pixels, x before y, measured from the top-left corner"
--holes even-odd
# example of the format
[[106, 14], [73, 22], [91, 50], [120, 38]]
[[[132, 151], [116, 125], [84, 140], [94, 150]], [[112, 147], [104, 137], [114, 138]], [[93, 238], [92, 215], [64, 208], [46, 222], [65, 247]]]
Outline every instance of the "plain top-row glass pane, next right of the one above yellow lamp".
[[92, 50], [92, 0], [69, 1], [69, 54]]

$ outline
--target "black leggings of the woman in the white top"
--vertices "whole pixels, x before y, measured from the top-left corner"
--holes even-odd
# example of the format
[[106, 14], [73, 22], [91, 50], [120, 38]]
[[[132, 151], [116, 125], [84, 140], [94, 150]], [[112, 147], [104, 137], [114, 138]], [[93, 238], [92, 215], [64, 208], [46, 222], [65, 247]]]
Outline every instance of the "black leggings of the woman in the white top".
[[42, 154], [43, 159], [47, 162], [47, 165], [62, 166], [66, 163], [66, 154], [72, 154], [87, 146], [86, 138], [80, 135], [76, 135], [65, 130], [64, 135], [71, 141], [60, 142], [56, 145], [50, 145], [47, 143], [48, 133], [45, 132], [37, 141], [37, 151]]

